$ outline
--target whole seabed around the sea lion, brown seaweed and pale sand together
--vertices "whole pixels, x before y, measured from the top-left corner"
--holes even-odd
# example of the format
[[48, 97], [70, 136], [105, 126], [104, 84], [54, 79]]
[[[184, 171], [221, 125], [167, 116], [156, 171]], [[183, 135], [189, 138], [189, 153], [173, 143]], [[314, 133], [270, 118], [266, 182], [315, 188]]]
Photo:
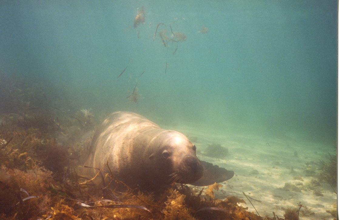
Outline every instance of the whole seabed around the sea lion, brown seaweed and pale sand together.
[[[193, 218], [201, 208], [212, 211], [211, 207], [219, 206], [229, 213], [224, 215], [239, 216], [232, 219], [281, 220], [287, 213], [297, 217], [300, 203], [299, 219], [335, 219], [336, 193], [324, 180], [333, 180], [336, 173], [331, 146], [180, 125], [160, 127], [184, 133], [197, 146], [199, 159], [233, 170], [235, 176], [217, 188], [214, 184], [204, 190], [189, 189], [177, 184], [157, 197], [138, 194], [143, 201], [129, 190], [123, 194], [112, 191], [123, 204], [134, 205], [132, 209], [80, 207], [79, 201], [113, 203], [101, 187], [85, 184], [84, 188], [82, 184], [89, 181], [84, 182], [75, 169], [78, 158], [86, 154], [82, 140], [105, 117], [93, 121], [93, 115], [86, 109], [0, 115], [0, 208], [4, 212], [0, 218], [26, 219], [28, 214], [29, 219], [150, 219], [145, 211], [148, 207], [153, 219], [225, 219], [216, 210]], [[262, 218], [256, 216], [248, 199]]]

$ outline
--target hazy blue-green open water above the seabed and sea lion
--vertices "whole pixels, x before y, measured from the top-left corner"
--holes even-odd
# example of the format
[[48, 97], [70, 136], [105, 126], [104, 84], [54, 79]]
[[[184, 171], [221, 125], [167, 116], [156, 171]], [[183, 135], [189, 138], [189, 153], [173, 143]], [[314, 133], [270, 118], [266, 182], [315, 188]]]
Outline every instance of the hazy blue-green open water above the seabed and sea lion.
[[0, 39], [1, 74], [55, 108], [336, 147], [337, 1], [2, 1]]

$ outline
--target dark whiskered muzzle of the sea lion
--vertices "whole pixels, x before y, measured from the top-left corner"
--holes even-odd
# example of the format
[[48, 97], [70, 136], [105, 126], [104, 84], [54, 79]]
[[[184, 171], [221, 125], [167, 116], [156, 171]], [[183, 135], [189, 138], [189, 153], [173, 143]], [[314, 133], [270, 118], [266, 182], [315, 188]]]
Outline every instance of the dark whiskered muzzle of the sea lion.
[[203, 165], [196, 157], [187, 157], [181, 162], [177, 171], [169, 175], [169, 182], [193, 183], [203, 176]]

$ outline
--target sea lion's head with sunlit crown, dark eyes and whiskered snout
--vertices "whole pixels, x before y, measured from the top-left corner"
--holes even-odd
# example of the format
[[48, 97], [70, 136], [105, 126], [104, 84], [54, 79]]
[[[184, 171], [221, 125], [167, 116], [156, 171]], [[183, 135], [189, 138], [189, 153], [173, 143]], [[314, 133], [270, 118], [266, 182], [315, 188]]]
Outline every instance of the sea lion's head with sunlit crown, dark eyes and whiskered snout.
[[[156, 140], [155, 140], [156, 139]], [[149, 157], [162, 170], [167, 183], [193, 183], [203, 175], [203, 165], [196, 157], [196, 146], [184, 134], [166, 130], [153, 141], [157, 151]]]

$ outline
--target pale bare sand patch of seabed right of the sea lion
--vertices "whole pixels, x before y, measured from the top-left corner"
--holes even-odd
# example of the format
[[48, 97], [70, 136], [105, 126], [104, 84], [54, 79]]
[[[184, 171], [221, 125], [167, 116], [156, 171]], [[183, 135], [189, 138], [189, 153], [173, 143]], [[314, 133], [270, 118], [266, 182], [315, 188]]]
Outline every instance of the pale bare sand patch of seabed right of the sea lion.
[[[283, 218], [285, 209], [297, 210], [301, 202], [299, 219], [335, 218], [328, 212], [336, 210], [337, 195], [326, 181], [320, 181], [319, 176], [320, 161], [329, 159], [330, 154], [334, 157], [334, 147], [237, 133], [216, 134], [191, 127], [172, 129], [193, 139], [200, 160], [235, 172], [232, 179], [221, 183], [223, 186], [216, 191], [216, 198], [242, 198], [246, 204], [239, 205], [249, 207], [248, 211], [256, 214], [244, 192], [251, 197], [261, 217], [272, 217], [275, 212]], [[212, 143], [228, 149], [225, 159], [205, 155], [204, 150]]]

